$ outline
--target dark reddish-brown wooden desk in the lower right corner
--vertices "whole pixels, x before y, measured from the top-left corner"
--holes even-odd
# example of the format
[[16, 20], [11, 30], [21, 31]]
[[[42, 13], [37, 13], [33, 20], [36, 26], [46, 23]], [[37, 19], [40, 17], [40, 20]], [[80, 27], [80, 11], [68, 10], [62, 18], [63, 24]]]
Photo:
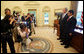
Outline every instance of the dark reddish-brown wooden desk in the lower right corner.
[[79, 33], [77, 31], [74, 32], [71, 46], [75, 48], [78, 52], [83, 52], [83, 33]]

